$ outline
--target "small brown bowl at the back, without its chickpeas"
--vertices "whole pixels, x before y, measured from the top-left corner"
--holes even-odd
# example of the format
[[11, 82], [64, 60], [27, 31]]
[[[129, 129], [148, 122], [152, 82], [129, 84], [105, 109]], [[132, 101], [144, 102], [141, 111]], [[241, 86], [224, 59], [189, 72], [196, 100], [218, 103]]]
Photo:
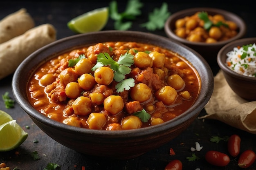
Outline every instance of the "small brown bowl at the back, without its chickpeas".
[[[174, 30], [175, 30], [175, 21], [180, 18], [184, 18], [186, 16], [191, 16], [195, 14], [196, 12], [205, 11], [209, 15], [215, 15], [215, 14], [221, 14], [225, 17], [226, 20], [230, 20], [233, 22], [236, 22], [238, 26], [238, 34], [225, 41], [220, 41], [216, 43], [207, 44], [204, 42], [190, 42], [189, 40], [186, 40], [184, 38], [178, 37]], [[185, 9], [182, 11], [178, 11], [177, 13], [173, 13], [167, 20], [164, 26], [164, 30], [166, 35], [178, 42], [181, 42], [182, 44], [185, 44], [186, 46], [189, 46], [191, 49], [197, 51], [200, 53], [204, 59], [211, 64], [212, 62], [216, 63], [216, 57], [218, 54], [218, 51], [229, 42], [232, 42], [234, 40], [238, 40], [240, 38], [243, 38], [245, 36], [247, 27], [242, 18], [240, 18], [238, 15], [231, 13], [229, 11], [225, 11], [222, 9], [215, 9], [215, 8], [191, 8], [191, 9]]]

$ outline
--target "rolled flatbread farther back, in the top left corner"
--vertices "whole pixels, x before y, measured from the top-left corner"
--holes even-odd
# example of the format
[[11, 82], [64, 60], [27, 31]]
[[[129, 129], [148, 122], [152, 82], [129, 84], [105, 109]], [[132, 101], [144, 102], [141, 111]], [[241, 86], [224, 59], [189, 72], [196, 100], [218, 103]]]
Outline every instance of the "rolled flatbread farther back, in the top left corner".
[[25, 8], [11, 13], [0, 20], [0, 43], [11, 40], [35, 26], [33, 18]]

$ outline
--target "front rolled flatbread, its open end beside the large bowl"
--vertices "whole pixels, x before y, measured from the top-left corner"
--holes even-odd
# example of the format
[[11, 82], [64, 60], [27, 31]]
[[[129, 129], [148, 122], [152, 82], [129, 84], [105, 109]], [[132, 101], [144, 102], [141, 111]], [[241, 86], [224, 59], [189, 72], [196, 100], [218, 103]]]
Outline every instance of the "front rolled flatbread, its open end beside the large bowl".
[[54, 26], [42, 24], [0, 44], [0, 79], [13, 73], [31, 53], [55, 40]]

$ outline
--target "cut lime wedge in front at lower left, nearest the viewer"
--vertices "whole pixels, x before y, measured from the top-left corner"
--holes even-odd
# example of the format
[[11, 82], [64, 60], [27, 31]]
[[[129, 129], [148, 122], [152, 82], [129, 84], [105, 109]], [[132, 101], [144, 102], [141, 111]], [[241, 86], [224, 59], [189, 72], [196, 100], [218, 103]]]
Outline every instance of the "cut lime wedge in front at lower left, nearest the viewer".
[[26, 139], [25, 132], [16, 120], [11, 120], [0, 126], [0, 152], [18, 148]]

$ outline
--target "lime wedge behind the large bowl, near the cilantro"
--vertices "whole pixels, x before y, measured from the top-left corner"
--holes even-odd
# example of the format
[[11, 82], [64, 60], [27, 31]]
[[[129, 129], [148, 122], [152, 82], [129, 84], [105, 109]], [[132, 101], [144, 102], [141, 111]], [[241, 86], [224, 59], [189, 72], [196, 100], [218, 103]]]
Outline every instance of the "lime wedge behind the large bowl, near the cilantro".
[[97, 8], [70, 20], [67, 26], [75, 33], [100, 31], [108, 22], [108, 7]]

